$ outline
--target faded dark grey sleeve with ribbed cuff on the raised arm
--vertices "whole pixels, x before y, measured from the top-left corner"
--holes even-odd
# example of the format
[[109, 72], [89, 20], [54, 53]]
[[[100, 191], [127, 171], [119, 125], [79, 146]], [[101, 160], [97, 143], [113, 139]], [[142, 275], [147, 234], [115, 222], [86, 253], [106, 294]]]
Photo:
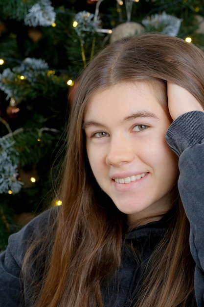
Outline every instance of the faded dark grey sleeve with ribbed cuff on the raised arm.
[[190, 222], [190, 249], [196, 262], [195, 295], [204, 306], [204, 112], [179, 116], [166, 132], [166, 141], [179, 155], [178, 188]]

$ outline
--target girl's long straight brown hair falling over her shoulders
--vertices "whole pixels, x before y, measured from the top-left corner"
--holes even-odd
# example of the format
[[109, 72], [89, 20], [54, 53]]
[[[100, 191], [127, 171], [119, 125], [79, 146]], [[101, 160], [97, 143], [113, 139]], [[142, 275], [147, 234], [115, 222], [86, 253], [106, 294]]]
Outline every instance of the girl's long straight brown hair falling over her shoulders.
[[[117, 41], [91, 61], [71, 107], [59, 191], [63, 205], [41, 242], [39, 250], [44, 254], [49, 251], [49, 255], [43, 257], [44, 275], [35, 284], [32, 306], [102, 307], [101, 285], [120, 266], [125, 216], [93, 178], [82, 130], [92, 95], [118, 82], [171, 81], [186, 88], [204, 106], [203, 68], [203, 51], [182, 39], [153, 33]], [[147, 265], [136, 306], [193, 306], [189, 223], [181, 200], [176, 206], [177, 214]], [[36, 262], [40, 266], [39, 253]]]

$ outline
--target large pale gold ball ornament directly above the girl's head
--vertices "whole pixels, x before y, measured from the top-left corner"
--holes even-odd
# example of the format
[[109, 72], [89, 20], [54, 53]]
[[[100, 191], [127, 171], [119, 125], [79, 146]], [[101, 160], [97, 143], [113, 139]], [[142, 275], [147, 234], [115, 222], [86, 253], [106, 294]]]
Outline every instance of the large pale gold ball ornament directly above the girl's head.
[[126, 22], [113, 29], [110, 37], [110, 44], [124, 37], [131, 37], [144, 32], [144, 27], [138, 23]]

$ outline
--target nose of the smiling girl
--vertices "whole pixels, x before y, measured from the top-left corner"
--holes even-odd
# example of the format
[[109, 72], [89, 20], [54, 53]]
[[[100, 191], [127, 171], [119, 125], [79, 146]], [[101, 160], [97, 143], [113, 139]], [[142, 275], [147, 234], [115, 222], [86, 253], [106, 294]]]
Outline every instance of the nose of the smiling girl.
[[135, 157], [130, 140], [125, 138], [117, 138], [111, 140], [108, 153], [106, 155], [107, 165], [120, 165], [131, 162]]

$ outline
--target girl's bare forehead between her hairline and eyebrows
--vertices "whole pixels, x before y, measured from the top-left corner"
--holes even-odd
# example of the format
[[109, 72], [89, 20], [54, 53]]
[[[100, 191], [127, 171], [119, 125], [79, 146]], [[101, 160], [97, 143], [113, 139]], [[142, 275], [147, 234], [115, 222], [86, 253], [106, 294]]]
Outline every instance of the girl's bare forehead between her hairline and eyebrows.
[[123, 82], [95, 92], [85, 109], [84, 120], [89, 117], [110, 117], [114, 113], [128, 113], [138, 109], [151, 112], [160, 110], [166, 101], [159, 85], [152, 86], [147, 82]]

